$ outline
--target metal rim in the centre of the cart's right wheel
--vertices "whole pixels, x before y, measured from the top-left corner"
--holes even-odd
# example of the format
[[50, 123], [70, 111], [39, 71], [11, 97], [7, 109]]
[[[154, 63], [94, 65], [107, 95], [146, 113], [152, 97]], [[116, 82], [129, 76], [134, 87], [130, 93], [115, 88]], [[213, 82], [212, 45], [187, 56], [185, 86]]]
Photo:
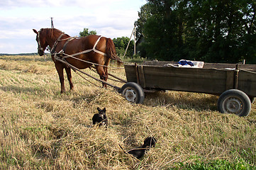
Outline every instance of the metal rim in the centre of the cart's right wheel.
[[239, 98], [229, 97], [223, 101], [223, 108], [226, 113], [243, 113], [243, 101]]

